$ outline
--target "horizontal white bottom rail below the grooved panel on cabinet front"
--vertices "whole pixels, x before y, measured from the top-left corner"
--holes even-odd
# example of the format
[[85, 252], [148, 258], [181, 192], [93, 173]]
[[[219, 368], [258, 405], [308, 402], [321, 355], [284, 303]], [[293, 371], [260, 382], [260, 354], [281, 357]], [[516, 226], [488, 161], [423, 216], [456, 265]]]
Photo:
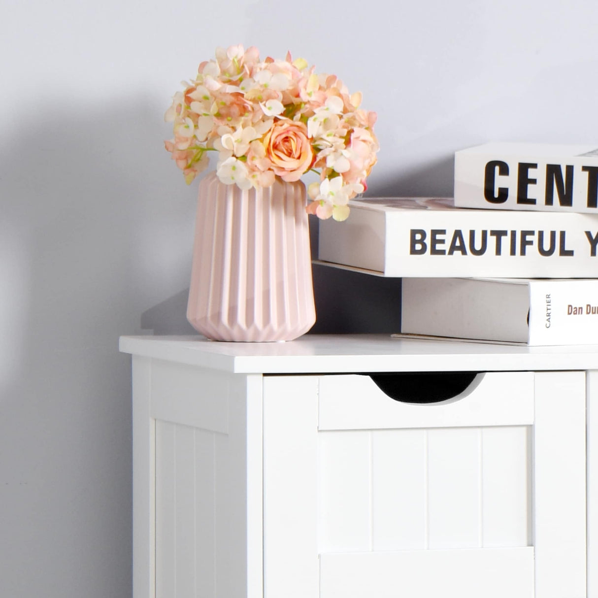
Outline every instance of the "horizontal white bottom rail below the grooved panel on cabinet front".
[[320, 581], [319, 598], [533, 598], [533, 548], [322, 554]]

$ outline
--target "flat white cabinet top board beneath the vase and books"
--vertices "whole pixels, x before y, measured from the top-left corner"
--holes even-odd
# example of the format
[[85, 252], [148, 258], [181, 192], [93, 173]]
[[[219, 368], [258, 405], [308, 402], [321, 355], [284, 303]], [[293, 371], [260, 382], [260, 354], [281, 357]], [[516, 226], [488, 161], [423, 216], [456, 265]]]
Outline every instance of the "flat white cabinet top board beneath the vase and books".
[[120, 350], [234, 373], [598, 370], [598, 345], [527, 347], [307, 334], [286, 343], [222, 343], [202, 336], [123, 336]]

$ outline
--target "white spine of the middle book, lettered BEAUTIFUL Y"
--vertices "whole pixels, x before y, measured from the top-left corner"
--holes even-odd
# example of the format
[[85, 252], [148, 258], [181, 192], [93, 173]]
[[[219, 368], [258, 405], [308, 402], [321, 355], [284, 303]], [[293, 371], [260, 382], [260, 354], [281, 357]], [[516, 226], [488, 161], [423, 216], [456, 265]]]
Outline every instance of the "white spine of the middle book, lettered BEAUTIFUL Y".
[[[346, 235], [346, 245], [355, 245], [362, 233], [359, 227], [355, 234], [341, 230], [347, 222], [335, 223], [335, 250], [341, 235]], [[598, 216], [405, 210], [388, 215], [383, 252], [385, 276], [593, 278], [598, 272]], [[343, 260], [344, 255], [337, 257]], [[355, 253], [353, 257], [359, 259]]]

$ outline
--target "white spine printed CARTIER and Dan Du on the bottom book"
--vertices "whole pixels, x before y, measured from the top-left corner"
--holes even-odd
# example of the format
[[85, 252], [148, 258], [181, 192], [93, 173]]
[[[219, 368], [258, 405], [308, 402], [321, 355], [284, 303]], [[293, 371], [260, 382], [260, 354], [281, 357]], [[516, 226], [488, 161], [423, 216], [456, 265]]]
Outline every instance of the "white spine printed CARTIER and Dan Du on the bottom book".
[[534, 280], [529, 344], [598, 343], [598, 280]]

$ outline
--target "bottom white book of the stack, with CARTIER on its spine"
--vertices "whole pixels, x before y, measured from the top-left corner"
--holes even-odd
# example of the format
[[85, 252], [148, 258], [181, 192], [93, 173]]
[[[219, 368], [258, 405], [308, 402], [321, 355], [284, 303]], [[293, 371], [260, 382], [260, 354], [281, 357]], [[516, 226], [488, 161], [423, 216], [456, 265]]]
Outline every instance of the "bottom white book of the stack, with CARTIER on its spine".
[[597, 344], [598, 280], [404, 279], [401, 334]]

